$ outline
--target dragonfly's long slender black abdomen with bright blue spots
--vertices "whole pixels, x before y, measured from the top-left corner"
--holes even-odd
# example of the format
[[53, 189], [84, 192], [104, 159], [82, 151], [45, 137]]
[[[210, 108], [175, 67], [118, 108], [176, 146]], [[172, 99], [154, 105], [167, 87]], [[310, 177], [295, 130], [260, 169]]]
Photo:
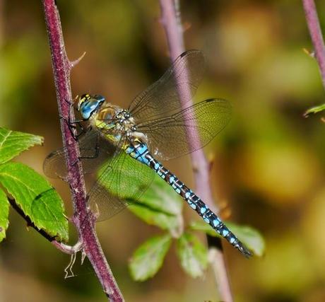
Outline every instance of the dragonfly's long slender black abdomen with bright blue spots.
[[138, 143], [134, 146], [126, 148], [126, 153], [137, 161], [148, 165], [151, 169], [165, 180], [188, 204], [194, 209], [206, 223], [223, 236], [229, 243], [231, 243], [237, 250], [240, 250], [246, 257], [251, 256], [251, 252], [244, 247], [244, 245], [237, 239], [237, 237], [225, 226], [223, 221], [208, 208], [208, 206], [192, 192], [183, 182], [181, 182], [174, 174], [170, 173], [161, 163], [155, 160], [148, 151], [146, 144]]

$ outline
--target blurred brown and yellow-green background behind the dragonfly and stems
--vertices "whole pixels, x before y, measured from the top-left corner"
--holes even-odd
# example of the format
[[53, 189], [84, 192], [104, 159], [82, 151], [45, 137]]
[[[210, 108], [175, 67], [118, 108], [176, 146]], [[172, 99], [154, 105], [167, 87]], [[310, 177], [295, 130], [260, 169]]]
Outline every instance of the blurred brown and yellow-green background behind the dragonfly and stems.
[[[325, 2], [317, 1], [325, 30]], [[57, 0], [73, 69], [73, 95], [101, 93], [127, 106], [170, 62], [158, 1]], [[225, 244], [235, 301], [325, 301], [324, 103], [301, 1], [181, 1], [187, 49], [206, 54], [196, 100], [230, 100], [230, 125], [206, 148], [214, 158], [211, 185], [232, 221], [258, 228], [266, 255], [246, 260]], [[0, 125], [45, 137], [19, 161], [42, 173], [47, 153], [61, 146], [52, 66], [41, 1], [0, 0]], [[189, 158], [167, 163], [194, 185]], [[52, 181], [52, 180], [51, 180]], [[52, 181], [69, 207], [69, 188]], [[185, 209], [187, 217], [195, 216]], [[71, 228], [71, 232], [73, 229]], [[169, 252], [158, 275], [131, 280], [127, 262], [159, 233], [129, 211], [98, 223], [98, 235], [126, 301], [218, 301], [211, 269], [191, 279]], [[204, 236], [201, 236], [205, 240]], [[73, 243], [73, 238], [71, 239]], [[0, 245], [0, 301], [105, 301], [90, 265], [64, 280], [69, 256], [52, 247], [11, 211]], [[80, 261], [78, 261], [80, 263]]]

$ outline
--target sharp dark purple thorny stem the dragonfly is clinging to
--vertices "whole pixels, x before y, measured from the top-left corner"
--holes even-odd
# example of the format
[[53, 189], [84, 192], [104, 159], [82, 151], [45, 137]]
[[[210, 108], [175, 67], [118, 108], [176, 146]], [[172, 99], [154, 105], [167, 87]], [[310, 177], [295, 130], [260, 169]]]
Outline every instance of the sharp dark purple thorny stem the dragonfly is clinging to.
[[[73, 64], [69, 62], [64, 47], [59, 11], [55, 0], [43, 0], [45, 23], [49, 36], [49, 46], [52, 56], [54, 82], [57, 91], [59, 114], [68, 120], [71, 114], [69, 101], [72, 100], [70, 87], [70, 72]], [[73, 116], [71, 115], [71, 118]], [[95, 233], [93, 217], [88, 214], [86, 205], [85, 182], [79, 158], [78, 143], [71, 134], [68, 123], [61, 119], [61, 132], [66, 150], [66, 165], [68, 167], [68, 182], [73, 200], [73, 223], [79, 238], [83, 243], [83, 251], [90, 260], [102, 284], [102, 289], [110, 301], [121, 302], [124, 298], [119, 291], [112, 271], [105, 259], [102, 248]]]

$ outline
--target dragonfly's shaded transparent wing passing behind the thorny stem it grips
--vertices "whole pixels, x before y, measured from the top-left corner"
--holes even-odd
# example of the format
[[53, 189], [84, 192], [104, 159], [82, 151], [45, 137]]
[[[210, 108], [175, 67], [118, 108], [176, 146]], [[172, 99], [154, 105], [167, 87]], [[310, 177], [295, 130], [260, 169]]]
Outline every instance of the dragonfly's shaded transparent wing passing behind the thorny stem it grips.
[[[83, 173], [93, 173], [116, 152], [116, 147], [102, 137], [96, 129], [90, 129], [78, 139]], [[66, 178], [68, 173], [64, 148], [49, 153], [43, 163], [45, 175], [49, 178]]]

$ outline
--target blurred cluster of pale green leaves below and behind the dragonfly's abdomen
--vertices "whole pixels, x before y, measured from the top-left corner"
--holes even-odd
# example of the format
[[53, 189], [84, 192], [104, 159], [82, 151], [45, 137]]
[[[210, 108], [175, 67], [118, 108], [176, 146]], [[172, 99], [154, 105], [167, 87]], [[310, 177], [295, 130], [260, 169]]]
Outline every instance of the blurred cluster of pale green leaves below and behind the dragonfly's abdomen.
[[[124, 179], [123, 182], [129, 183], [126, 178], [130, 175], [126, 170], [121, 172], [120, 177]], [[127, 191], [124, 190], [124, 192]], [[167, 231], [164, 236], [150, 238], [136, 249], [129, 261], [132, 277], [137, 281], [153, 277], [162, 266], [172, 238], [175, 238], [177, 243], [177, 255], [184, 271], [191, 277], [202, 277], [208, 265], [208, 250], [191, 232], [203, 231], [211, 236], [221, 236], [203, 220], [184, 227], [182, 198], [175, 194], [165, 180], [157, 176], [153, 178], [152, 184], [144, 194], [130, 202], [129, 209], [141, 220]], [[249, 250], [254, 252], [254, 255], [261, 257], [264, 254], [264, 238], [258, 231], [247, 226], [238, 226], [235, 223], [227, 223], [227, 226]]]

